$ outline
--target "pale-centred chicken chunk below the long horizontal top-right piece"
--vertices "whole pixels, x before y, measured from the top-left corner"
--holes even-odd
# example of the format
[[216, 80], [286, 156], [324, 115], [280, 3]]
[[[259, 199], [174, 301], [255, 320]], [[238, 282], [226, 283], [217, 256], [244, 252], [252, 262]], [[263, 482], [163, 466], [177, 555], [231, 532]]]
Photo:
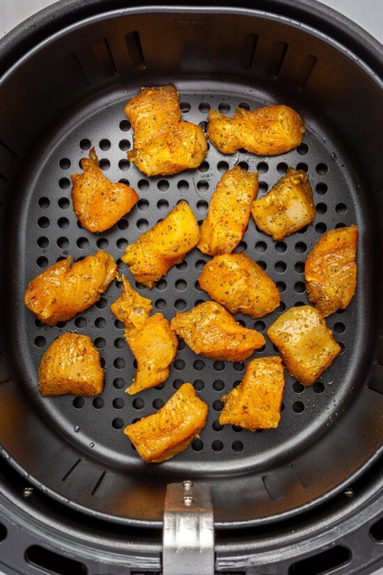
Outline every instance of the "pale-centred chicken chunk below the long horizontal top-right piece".
[[259, 229], [283, 240], [315, 218], [313, 190], [305, 171], [289, 168], [265, 196], [256, 199], [251, 213]]

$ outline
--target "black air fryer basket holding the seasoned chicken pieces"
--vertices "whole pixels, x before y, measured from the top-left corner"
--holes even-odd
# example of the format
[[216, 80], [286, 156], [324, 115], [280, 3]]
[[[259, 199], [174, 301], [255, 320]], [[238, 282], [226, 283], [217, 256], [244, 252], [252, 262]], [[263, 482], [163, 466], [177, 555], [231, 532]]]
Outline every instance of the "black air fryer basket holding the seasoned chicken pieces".
[[[73, 518], [84, 531], [91, 522], [92, 544], [96, 532], [118, 539], [118, 528], [126, 530], [132, 541], [138, 539], [135, 549], [141, 541], [155, 569], [166, 485], [185, 479], [207, 482], [212, 489], [221, 549], [217, 565], [221, 557], [226, 569], [232, 557], [238, 565], [238, 554], [255, 561], [249, 557], [260, 533], [272, 549], [271, 534], [278, 532], [277, 547], [283, 551], [286, 533], [299, 528], [308, 540], [315, 533], [325, 548], [331, 540], [320, 542], [321, 529], [329, 531], [341, 513], [343, 529], [348, 525], [354, 531], [358, 522], [372, 521], [381, 530], [382, 520], [376, 521], [383, 436], [382, 61], [370, 38], [358, 29], [355, 37], [331, 11], [313, 2], [283, 4], [186, 8], [61, 2], [43, 13], [40, 26], [34, 20], [36, 30], [19, 29], [3, 43], [0, 442], [6, 468], [11, 466], [3, 491], [20, 514], [31, 514], [41, 526], [40, 514], [46, 513], [49, 529], [61, 521], [71, 537], [76, 536]], [[244, 151], [222, 155], [210, 146], [198, 169], [148, 178], [127, 161], [133, 133], [123, 108], [141, 86], [169, 83], [180, 93], [182, 117], [203, 127], [210, 108], [232, 114], [238, 105], [290, 105], [304, 118], [304, 141], [274, 158]], [[104, 173], [139, 193], [132, 212], [99, 234], [78, 224], [70, 199], [70, 174], [79, 171], [92, 146]], [[123, 326], [110, 310], [120, 293], [118, 282], [91, 309], [54, 328], [23, 305], [30, 279], [68, 255], [78, 259], [105, 250], [132, 280], [120, 261], [127, 243], [180, 199], [203, 220], [217, 182], [235, 164], [258, 171], [259, 197], [288, 167], [304, 169], [317, 211], [312, 225], [277, 243], [249, 222], [238, 250], [267, 270], [282, 300], [258, 321], [238, 314], [249, 328], [265, 335], [284, 309], [306, 303], [304, 261], [313, 244], [329, 229], [359, 227], [356, 294], [345, 312], [327, 319], [341, 354], [310, 388], [286, 374], [281, 423], [256, 434], [218, 423], [220, 398], [242, 379], [246, 365], [202, 358], [182, 340], [166, 383], [125, 394], [135, 367]], [[171, 319], [208, 299], [197, 282], [208, 259], [193, 250], [153, 290], [139, 284], [136, 289]], [[66, 331], [90, 335], [100, 351], [105, 369], [100, 397], [40, 397], [36, 371], [42, 353]], [[267, 340], [254, 357], [275, 353]], [[209, 405], [206, 427], [178, 457], [147, 465], [123, 427], [153, 413], [185, 381]], [[13, 490], [21, 484], [36, 489], [33, 497], [17, 498]], [[365, 515], [357, 519], [361, 508]], [[350, 525], [346, 516], [352, 516]], [[360, 565], [382, 556], [373, 536], [364, 549], [368, 555]], [[350, 561], [355, 559], [345, 558], [345, 568], [357, 565]], [[307, 567], [292, 573], [306, 573], [299, 569], [310, 573]]]

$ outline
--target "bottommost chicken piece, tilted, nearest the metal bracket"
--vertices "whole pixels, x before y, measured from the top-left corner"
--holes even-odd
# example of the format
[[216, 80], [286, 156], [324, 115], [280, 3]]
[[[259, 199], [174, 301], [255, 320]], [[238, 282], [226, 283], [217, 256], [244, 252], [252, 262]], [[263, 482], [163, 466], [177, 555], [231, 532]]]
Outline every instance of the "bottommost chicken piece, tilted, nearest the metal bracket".
[[160, 463], [187, 449], [203, 429], [208, 406], [191, 383], [181, 387], [153, 415], [125, 427], [137, 452], [146, 462]]

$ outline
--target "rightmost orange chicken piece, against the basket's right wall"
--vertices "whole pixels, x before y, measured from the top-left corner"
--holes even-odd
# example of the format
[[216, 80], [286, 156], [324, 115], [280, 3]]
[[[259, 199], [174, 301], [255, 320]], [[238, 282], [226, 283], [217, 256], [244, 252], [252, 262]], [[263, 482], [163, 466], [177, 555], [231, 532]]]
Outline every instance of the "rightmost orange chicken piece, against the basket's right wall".
[[307, 296], [323, 316], [346, 309], [354, 296], [358, 235], [355, 225], [327, 231], [307, 256]]

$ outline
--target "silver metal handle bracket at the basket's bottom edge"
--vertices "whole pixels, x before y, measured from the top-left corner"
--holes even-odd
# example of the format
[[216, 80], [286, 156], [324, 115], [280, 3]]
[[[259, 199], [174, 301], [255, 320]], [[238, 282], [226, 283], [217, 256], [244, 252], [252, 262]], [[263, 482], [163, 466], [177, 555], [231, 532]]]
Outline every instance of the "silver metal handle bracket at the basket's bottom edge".
[[192, 481], [166, 488], [163, 575], [214, 575], [214, 517], [210, 486]]

